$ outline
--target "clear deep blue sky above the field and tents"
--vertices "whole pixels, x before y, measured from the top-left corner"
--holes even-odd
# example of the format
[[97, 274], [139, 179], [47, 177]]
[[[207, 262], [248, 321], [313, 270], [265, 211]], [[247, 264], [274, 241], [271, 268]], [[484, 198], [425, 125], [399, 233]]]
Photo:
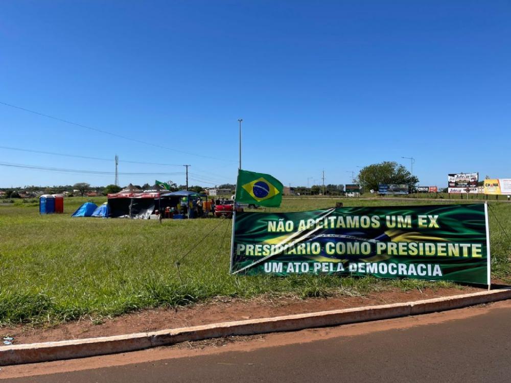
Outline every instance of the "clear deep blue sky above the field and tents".
[[[0, 102], [181, 151], [0, 105], [0, 146], [112, 158], [1, 163], [113, 172], [118, 154], [120, 172], [235, 182], [241, 117], [243, 168], [285, 184], [402, 156], [421, 185], [511, 177], [509, 1], [5, 0], [0, 20]], [[120, 183], [155, 178], [184, 183]], [[0, 166], [0, 187], [113, 181]]]

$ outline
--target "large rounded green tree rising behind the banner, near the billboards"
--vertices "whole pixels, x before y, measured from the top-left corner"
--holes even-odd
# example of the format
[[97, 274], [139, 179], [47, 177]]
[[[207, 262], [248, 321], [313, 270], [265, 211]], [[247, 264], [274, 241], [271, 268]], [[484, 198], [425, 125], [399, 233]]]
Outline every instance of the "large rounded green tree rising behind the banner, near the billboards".
[[365, 166], [358, 174], [360, 186], [368, 192], [378, 190], [378, 184], [407, 184], [414, 186], [419, 178], [412, 176], [405, 166], [385, 161]]

